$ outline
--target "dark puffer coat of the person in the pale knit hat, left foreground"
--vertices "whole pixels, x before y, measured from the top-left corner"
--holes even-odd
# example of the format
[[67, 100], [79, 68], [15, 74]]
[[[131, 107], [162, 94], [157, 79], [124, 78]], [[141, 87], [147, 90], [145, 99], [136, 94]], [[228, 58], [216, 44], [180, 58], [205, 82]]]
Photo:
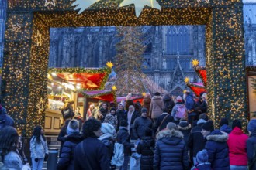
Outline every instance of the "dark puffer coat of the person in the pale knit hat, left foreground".
[[74, 169], [74, 148], [78, 143], [83, 140], [83, 137], [78, 132], [67, 136], [64, 142], [59, 162], [57, 163], [57, 169], [59, 170], [73, 170]]

